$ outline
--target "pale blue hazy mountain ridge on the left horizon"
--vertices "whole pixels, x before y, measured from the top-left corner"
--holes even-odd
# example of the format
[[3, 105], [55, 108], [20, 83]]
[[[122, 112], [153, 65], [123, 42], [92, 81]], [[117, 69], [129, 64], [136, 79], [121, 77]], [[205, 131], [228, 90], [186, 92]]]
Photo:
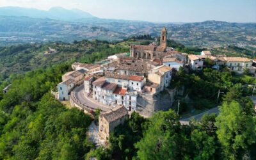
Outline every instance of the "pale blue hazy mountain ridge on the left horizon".
[[0, 7], [0, 15], [4, 16], [17, 16], [17, 17], [31, 17], [39, 19], [57, 19], [57, 20], [77, 20], [77, 19], [90, 19], [96, 18], [88, 12], [82, 10], [72, 9], [66, 10], [61, 7], [54, 7], [48, 11], [37, 10], [35, 8], [21, 8], [16, 6]]

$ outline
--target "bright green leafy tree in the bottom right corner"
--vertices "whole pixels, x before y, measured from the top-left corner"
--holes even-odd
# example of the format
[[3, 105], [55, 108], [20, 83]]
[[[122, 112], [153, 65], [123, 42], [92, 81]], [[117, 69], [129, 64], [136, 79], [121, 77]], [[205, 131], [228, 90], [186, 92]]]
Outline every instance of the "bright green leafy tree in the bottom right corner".
[[235, 100], [224, 102], [221, 106], [216, 126], [223, 156], [227, 159], [241, 158], [248, 151], [248, 147], [255, 143], [255, 118], [246, 115]]

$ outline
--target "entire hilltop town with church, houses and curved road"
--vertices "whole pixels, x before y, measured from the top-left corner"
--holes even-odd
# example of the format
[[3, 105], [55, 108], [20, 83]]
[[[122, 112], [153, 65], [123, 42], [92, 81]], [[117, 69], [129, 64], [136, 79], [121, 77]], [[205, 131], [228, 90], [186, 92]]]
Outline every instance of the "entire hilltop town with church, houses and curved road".
[[215, 70], [225, 67], [236, 74], [255, 73], [254, 61], [248, 58], [175, 51], [167, 47], [167, 35], [164, 27], [159, 45], [131, 45], [129, 53], [115, 54], [99, 63], [73, 63], [73, 71], [62, 76], [58, 92], [52, 93], [85, 113], [100, 109], [99, 136], [108, 140], [109, 132], [123, 124], [132, 111], [148, 117], [172, 108], [175, 96], [183, 91], [171, 87], [173, 72], [180, 68], [200, 71], [211, 61]]

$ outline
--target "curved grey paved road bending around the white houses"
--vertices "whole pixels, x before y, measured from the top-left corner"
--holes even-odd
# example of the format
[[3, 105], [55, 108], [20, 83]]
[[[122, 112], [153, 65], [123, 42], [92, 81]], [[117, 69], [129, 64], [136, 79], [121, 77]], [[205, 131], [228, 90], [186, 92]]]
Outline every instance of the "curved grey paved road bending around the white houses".
[[79, 100], [81, 104], [84, 104], [85, 106], [90, 106], [90, 108], [93, 108], [93, 109], [100, 108], [102, 111], [108, 111], [111, 108], [110, 106], [100, 104], [84, 96], [83, 88], [84, 88], [84, 85], [82, 84], [81, 86], [77, 86], [73, 91], [76, 99]]

